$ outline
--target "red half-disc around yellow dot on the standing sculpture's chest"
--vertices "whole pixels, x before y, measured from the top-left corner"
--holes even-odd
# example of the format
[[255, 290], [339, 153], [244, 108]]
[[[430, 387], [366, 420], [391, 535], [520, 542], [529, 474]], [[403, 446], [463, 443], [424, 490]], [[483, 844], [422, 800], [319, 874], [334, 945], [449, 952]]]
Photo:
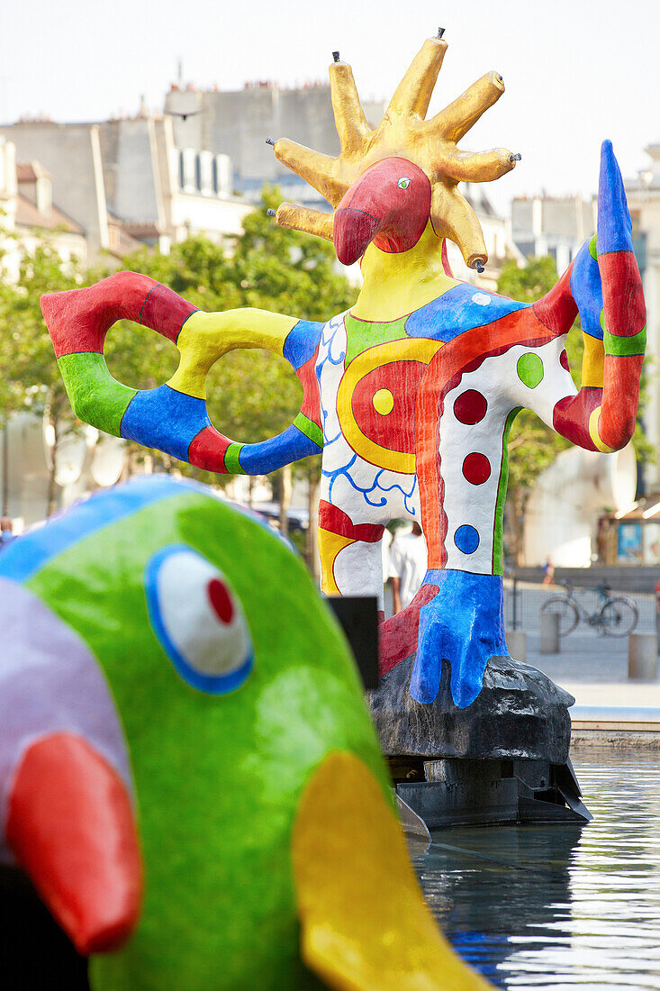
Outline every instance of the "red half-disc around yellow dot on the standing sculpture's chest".
[[[423, 362], [388, 362], [355, 386], [351, 399], [355, 421], [379, 447], [414, 454], [415, 397], [425, 372]], [[387, 398], [386, 393], [391, 396], [391, 408], [380, 412], [378, 406], [386, 409], [390, 404], [379, 401]]]

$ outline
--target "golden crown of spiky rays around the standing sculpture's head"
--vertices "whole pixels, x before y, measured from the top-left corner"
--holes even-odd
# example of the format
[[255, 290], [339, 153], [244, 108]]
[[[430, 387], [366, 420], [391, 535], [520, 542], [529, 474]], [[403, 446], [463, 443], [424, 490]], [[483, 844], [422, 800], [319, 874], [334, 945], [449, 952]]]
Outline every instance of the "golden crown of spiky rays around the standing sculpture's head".
[[[431, 223], [436, 235], [454, 241], [472, 268], [485, 263], [488, 252], [479, 220], [459, 192], [458, 183], [499, 178], [514, 167], [519, 156], [505, 148], [473, 154], [457, 147], [504, 92], [503, 80], [495, 71], [477, 79], [435, 117], [425, 119], [447, 51], [441, 34], [427, 39], [415, 55], [375, 130], [367, 123], [351, 66], [334, 53], [336, 60], [329, 69], [330, 94], [340, 155], [321, 155], [281, 138], [275, 142], [275, 157], [318, 190], [334, 209], [371, 165], [393, 156], [408, 159], [431, 181]], [[275, 216], [282, 227], [332, 240], [333, 214], [281, 203]]]

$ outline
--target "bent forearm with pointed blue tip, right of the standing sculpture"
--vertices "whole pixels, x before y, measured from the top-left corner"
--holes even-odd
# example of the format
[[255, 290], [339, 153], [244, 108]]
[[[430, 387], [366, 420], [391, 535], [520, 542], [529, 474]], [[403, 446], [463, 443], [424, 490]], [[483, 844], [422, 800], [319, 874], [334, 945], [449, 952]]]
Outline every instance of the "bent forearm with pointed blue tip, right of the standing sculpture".
[[[632, 251], [630, 214], [611, 143], [603, 143], [598, 232], [569, 270], [534, 305], [538, 318], [557, 335], [557, 366], [548, 402], [543, 387], [528, 392], [529, 406], [563, 437], [592, 451], [624, 447], [635, 426], [639, 379], [646, 344], [646, 310]], [[568, 375], [562, 337], [580, 312], [585, 338], [579, 391]], [[563, 393], [563, 394], [562, 394]]]

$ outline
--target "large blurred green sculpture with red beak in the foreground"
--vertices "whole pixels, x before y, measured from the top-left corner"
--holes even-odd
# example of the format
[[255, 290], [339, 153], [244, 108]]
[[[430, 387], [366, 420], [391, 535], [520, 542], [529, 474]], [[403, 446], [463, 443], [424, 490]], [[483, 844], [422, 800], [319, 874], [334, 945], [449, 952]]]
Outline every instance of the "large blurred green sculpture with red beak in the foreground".
[[490, 986], [435, 929], [345, 640], [272, 531], [143, 478], [3, 551], [0, 591], [0, 846], [94, 989], [309, 988], [303, 959]]

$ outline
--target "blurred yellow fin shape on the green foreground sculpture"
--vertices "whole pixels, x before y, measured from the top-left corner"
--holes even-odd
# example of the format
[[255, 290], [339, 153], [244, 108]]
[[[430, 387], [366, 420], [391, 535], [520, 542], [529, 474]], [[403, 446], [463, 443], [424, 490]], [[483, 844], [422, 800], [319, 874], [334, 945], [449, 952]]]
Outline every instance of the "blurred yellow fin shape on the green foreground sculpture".
[[367, 766], [344, 750], [314, 772], [291, 862], [307, 966], [337, 991], [487, 991], [440, 934], [401, 827]]

